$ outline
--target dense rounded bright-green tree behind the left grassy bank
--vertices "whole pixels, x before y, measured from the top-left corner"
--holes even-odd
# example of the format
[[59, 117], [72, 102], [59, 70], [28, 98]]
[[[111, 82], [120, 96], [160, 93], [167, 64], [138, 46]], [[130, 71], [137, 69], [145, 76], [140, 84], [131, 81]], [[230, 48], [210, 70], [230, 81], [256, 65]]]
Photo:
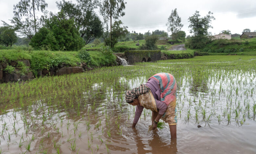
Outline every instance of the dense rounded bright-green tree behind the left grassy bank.
[[83, 39], [75, 28], [73, 19], [66, 19], [63, 12], [45, 20], [45, 27], [31, 39], [33, 48], [50, 50], [79, 50], [84, 46]]

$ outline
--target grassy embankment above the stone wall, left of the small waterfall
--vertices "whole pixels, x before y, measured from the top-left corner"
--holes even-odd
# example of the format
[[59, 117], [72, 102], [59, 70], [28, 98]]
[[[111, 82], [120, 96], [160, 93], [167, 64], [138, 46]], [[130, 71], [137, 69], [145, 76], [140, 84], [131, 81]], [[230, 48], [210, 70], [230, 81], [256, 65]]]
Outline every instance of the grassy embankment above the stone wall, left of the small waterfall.
[[87, 62], [78, 57], [78, 51], [26, 51], [19, 49], [0, 50], [0, 64], [8, 63], [18, 60], [29, 60], [31, 63], [31, 70], [34, 74], [38, 70], [49, 69], [50, 67], [57, 67], [62, 63], [67, 66], [79, 66], [84, 62], [88, 67], [100, 67], [115, 65], [116, 57], [104, 55], [102, 52], [88, 51], [91, 61]]

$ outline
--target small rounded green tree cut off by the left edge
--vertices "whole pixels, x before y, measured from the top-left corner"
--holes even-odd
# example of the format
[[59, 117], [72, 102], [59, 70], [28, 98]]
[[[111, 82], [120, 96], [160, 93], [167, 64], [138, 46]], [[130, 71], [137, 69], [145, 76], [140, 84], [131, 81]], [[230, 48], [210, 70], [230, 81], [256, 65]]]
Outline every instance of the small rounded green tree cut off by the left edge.
[[17, 41], [18, 37], [15, 33], [15, 29], [11, 27], [0, 27], [0, 44], [4, 44], [6, 47], [12, 46]]

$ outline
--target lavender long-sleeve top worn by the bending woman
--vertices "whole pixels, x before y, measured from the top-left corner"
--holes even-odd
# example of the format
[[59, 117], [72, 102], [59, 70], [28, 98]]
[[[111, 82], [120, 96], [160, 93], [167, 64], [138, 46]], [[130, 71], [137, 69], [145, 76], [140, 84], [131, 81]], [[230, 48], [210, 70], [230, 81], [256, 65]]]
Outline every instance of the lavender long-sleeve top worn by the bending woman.
[[[155, 79], [149, 79], [148, 82], [145, 84], [147, 87], [150, 88], [154, 98], [155, 98], [155, 101], [156, 101], [156, 105], [157, 105], [157, 109], [159, 111], [159, 114], [164, 114], [165, 110], [167, 109], [167, 105], [164, 103], [164, 102], [161, 102], [160, 101], [160, 87], [159, 87], [159, 83], [158, 81], [156, 81]], [[139, 121], [139, 117], [143, 111], [143, 106], [141, 106], [140, 104], [136, 107], [136, 111], [135, 111], [135, 117], [134, 117], [134, 120], [133, 122], [135, 124], [138, 123]]]

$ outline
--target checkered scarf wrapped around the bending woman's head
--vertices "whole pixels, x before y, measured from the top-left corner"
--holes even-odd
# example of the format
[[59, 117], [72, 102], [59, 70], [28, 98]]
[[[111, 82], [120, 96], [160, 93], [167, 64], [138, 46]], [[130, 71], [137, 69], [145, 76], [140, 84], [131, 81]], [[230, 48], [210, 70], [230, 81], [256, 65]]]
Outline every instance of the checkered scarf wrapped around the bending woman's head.
[[125, 101], [126, 102], [131, 102], [132, 100], [134, 100], [139, 95], [147, 93], [149, 91], [149, 89], [150, 88], [147, 87], [146, 85], [141, 84], [137, 88], [133, 88], [132, 90], [127, 90], [125, 92]]

